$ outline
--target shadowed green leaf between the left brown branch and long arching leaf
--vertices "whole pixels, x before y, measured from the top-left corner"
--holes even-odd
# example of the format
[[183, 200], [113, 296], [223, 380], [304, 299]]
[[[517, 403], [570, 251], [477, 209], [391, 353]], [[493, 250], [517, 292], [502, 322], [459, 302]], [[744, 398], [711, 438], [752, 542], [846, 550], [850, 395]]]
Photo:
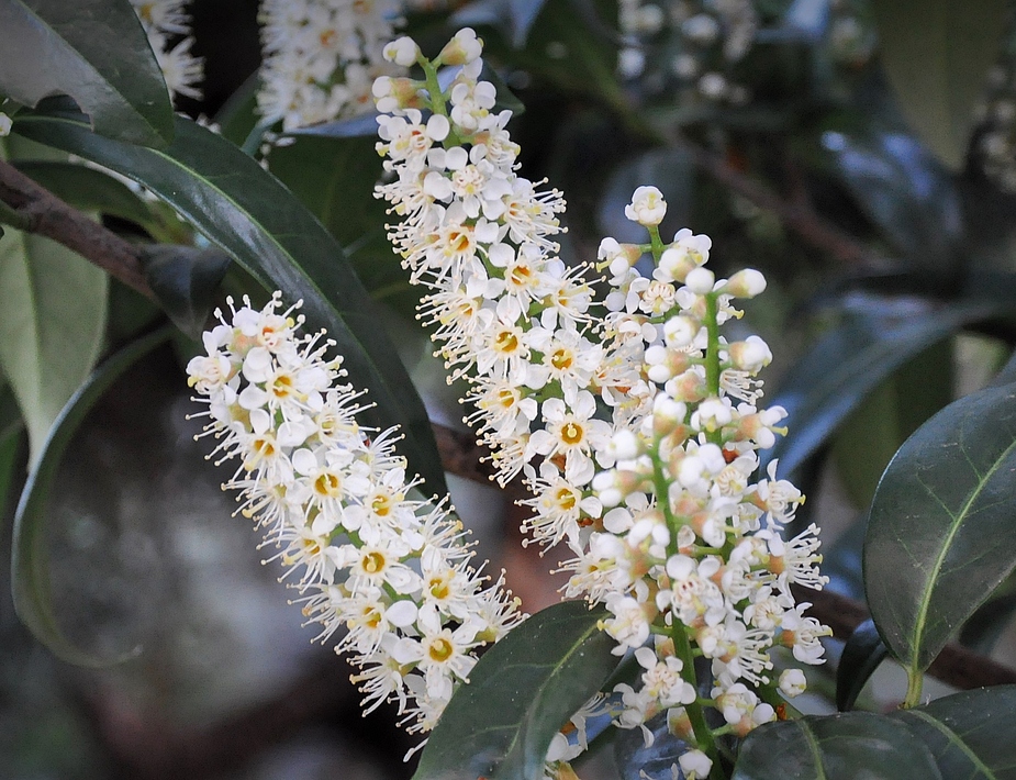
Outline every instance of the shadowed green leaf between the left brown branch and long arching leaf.
[[136, 192], [101, 170], [55, 160], [15, 161], [14, 167], [81, 211], [118, 216], [146, 230], [156, 223]]

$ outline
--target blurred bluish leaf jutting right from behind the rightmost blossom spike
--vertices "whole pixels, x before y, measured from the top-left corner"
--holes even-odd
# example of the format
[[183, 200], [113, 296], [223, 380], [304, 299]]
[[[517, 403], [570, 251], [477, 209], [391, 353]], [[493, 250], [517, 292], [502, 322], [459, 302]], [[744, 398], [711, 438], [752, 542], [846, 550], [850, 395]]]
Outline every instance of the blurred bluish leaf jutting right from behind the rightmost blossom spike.
[[853, 304], [841, 325], [827, 333], [783, 377], [772, 404], [788, 411], [786, 437], [762, 453], [762, 468], [779, 458], [790, 473], [817, 452], [883, 379], [928, 346], [985, 319], [992, 304], [948, 309], [883, 299]]

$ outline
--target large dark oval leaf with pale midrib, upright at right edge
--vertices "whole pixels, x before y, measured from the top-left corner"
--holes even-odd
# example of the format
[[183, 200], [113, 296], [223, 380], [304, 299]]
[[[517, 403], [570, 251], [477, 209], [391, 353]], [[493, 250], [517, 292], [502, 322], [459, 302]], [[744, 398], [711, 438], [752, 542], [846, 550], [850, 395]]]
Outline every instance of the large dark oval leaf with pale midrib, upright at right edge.
[[871, 616], [912, 678], [1016, 568], [1016, 385], [923, 425], [890, 463], [864, 539]]

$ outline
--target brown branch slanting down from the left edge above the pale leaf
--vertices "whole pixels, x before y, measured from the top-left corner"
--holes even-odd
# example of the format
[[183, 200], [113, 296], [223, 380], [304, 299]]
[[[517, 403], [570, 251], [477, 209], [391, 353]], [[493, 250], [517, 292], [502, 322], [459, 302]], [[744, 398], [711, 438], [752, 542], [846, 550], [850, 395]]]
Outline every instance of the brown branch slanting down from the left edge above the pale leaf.
[[0, 201], [23, 220], [29, 233], [52, 238], [154, 298], [142, 271], [141, 249], [40, 187], [9, 163], [0, 160]]

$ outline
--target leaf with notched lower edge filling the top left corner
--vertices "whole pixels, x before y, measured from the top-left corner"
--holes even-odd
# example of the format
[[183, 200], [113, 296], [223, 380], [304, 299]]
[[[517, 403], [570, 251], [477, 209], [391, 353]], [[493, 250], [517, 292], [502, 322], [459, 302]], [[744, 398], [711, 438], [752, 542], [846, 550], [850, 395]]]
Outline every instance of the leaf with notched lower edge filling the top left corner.
[[69, 94], [100, 135], [165, 147], [169, 92], [129, 0], [4, 0], [0, 92], [25, 105]]

